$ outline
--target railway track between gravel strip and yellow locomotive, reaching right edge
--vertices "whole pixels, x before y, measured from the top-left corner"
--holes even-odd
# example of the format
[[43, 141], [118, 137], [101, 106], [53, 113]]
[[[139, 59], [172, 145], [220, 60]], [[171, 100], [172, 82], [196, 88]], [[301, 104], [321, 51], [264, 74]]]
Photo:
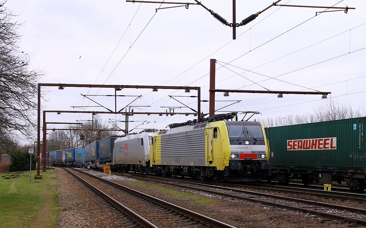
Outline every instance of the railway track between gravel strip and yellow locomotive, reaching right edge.
[[[116, 173], [121, 175], [120, 173]], [[314, 214], [323, 218], [343, 220], [347, 222], [366, 225], [366, 210], [354, 207], [340, 206], [329, 203], [314, 202], [304, 199], [296, 199], [285, 196], [237, 190], [228, 187], [212, 186], [208, 184], [193, 183], [190, 181], [165, 179], [158, 180], [160, 177], [137, 177], [133, 174], [122, 174], [143, 181], [156, 181], [163, 185], [173, 185], [179, 190], [191, 190], [195, 192], [207, 192], [221, 198], [241, 199], [244, 201], [255, 202], [261, 206], [284, 208], [302, 213]], [[212, 184], [212, 183], [211, 183]], [[242, 185], [241, 185], [242, 186]], [[363, 199], [362, 199], [363, 200]]]

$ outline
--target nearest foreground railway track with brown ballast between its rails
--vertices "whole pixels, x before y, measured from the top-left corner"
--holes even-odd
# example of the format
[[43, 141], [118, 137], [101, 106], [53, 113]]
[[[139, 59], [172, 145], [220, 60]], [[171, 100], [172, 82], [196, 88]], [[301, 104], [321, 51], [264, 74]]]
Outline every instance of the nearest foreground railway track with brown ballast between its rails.
[[[98, 195], [103, 196], [113, 206], [128, 214], [142, 227], [234, 228], [213, 218], [162, 201], [112, 181], [80, 170], [65, 169]], [[120, 202], [123, 202], [123, 204]]]

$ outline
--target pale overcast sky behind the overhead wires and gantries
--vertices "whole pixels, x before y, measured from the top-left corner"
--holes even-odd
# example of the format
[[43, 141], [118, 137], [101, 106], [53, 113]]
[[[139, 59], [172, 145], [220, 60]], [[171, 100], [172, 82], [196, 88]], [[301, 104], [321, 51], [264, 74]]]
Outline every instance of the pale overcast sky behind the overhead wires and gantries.
[[[193, 0], [190, 2], [194, 2]], [[232, 1], [202, 0], [203, 5], [232, 22]], [[236, 1], [236, 22], [261, 11], [273, 1]], [[279, 4], [355, 7], [356, 10], [326, 12], [319, 8], [273, 6], [254, 21], [236, 29], [224, 26], [202, 6], [161, 9], [160, 4], [127, 3], [123, 0], [8, 0], [6, 7], [25, 22], [21, 51], [30, 56], [31, 66], [48, 73], [41, 82], [108, 85], [172, 85], [201, 87], [202, 100], [208, 100], [209, 63], [216, 59], [217, 89], [284, 91], [329, 91], [340, 103], [355, 109], [366, 107], [366, 2], [338, 0], [283, 0]], [[161, 7], [171, 7], [163, 4]], [[229, 65], [225, 65], [229, 63]], [[223, 67], [224, 66], [224, 67]], [[248, 71], [250, 70], [250, 71]], [[276, 79], [269, 79], [276, 77]], [[269, 80], [268, 80], [269, 79]], [[254, 84], [253, 82], [257, 84]], [[309, 88], [309, 89], [306, 89]], [[44, 110], [106, 111], [80, 94], [111, 95], [114, 89], [45, 88]], [[143, 111], [165, 111], [180, 107], [168, 95], [184, 90], [123, 89], [119, 95], [143, 95], [133, 106]], [[197, 95], [191, 91], [189, 95]], [[216, 109], [231, 101], [239, 104], [220, 111], [260, 111], [262, 116], [311, 112], [325, 102], [321, 95], [230, 93], [216, 94]], [[118, 97], [117, 110], [135, 97]], [[177, 97], [197, 109], [197, 99]], [[114, 110], [114, 98], [94, 100]], [[161, 107], [164, 106], [164, 107]], [[134, 111], [138, 111], [137, 107]], [[201, 110], [208, 113], [208, 102]], [[191, 112], [187, 108], [176, 112]], [[221, 112], [217, 112], [221, 113]], [[105, 114], [102, 118], [124, 116]], [[147, 121], [141, 128], [165, 128], [193, 116], [134, 115], [130, 120]], [[47, 114], [48, 122], [75, 122], [91, 119], [91, 114]], [[156, 121], [156, 123], [154, 122]], [[130, 129], [142, 122], [130, 124]], [[51, 127], [58, 127], [52, 125]], [[119, 123], [124, 129], [124, 124]]]

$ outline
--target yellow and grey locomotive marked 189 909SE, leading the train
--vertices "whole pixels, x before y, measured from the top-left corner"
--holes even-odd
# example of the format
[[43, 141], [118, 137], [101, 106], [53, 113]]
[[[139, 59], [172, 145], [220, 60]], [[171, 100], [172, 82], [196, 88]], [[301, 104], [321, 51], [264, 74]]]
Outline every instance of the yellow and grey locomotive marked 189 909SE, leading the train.
[[154, 133], [149, 171], [200, 180], [258, 181], [270, 175], [261, 122], [215, 121]]

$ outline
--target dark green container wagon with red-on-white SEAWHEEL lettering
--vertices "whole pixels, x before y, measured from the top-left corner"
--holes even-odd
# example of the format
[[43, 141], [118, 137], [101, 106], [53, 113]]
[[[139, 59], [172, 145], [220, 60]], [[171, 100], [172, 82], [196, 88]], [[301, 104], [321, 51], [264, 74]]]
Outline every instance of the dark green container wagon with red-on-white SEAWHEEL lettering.
[[288, 183], [300, 178], [331, 184], [346, 181], [352, 190], [365, 189], [366, 117], [266, 128], [272, 179]]

